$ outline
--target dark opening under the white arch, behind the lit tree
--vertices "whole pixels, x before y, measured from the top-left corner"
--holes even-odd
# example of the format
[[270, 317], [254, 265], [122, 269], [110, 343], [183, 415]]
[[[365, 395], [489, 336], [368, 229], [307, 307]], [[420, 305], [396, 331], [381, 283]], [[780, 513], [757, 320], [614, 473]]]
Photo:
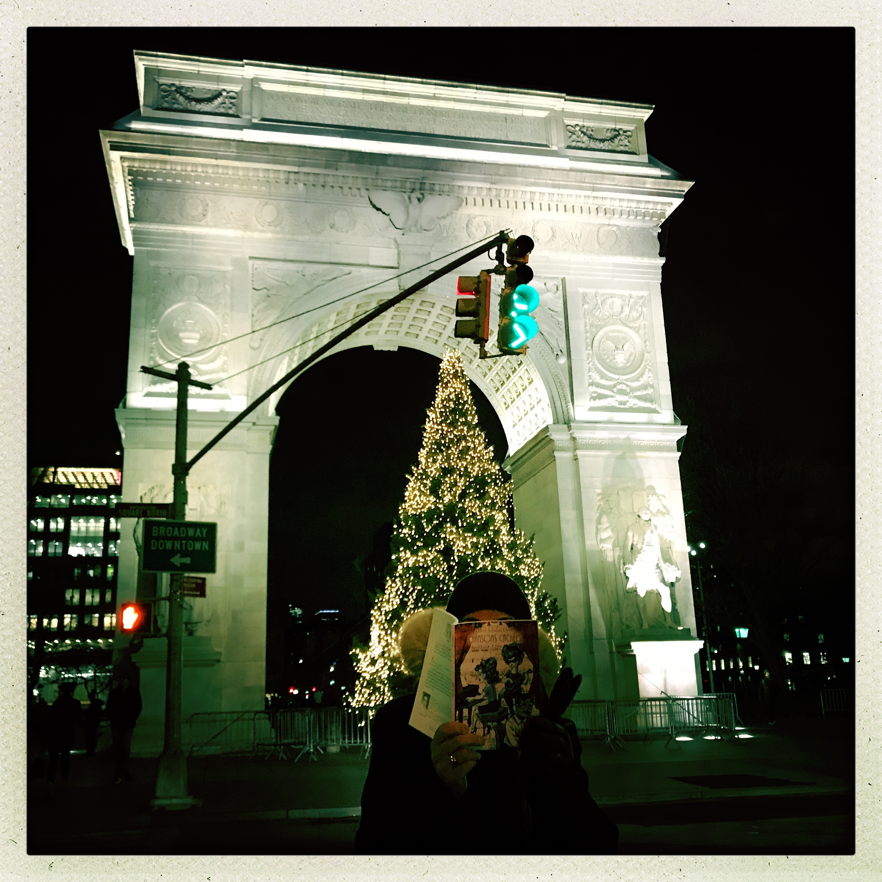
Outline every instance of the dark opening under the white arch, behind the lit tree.
[[[274, 704], [310, 704], [313, 689], [336, 701], [344, 686], [354, 688], [348, 649], [354, 634], [367, 637], [368, 587], [388, 560], [438, 364], [413, 348], [348, 349], [297, 377], [276, 406], [266, 598], [266, 691]], [[469, 385], [501, 463], [505, 430]]]

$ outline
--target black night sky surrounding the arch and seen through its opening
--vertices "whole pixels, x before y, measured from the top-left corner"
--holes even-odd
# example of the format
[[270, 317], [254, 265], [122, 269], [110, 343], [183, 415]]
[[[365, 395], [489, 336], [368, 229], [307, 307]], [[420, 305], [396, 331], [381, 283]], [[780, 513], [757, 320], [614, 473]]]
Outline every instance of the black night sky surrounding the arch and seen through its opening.
[[[649, 153], [696, 182], [661, 235], [671, 384], [689, 426], [681, 469], [691, 538], [724, 532], [724, 514], [701, 511], [708, 482], [725, 488], [745, 468], [783, 468], [789, 482], [766, 487], [761, 505], [751, 501], [754, 488], [730, 508], [738, 547], [750, 560], [765, 543], [782, 572], [806, 549], [825, 549], [823, 565], [801, 571], [818, 584], [808, 591], [794, 583], [781, 596], [832, 612], [849, 632], [853, 30], [543, 29], [522, 32], [523, 45], [536, 48], [521, 56], [505, 49], [513, 41], [467, 53], [477, 39], [445, 30], [30, 28], [30, 464], [122, 464], [113, 410], [125, 392], [131, 258], [98, 130], [138, 107], [132, 50], [651, 103]], [[64, 112], [44, 116], [51, 96], [80, 82], [84, 57], [89, 87], [78, 87]], [[346, 400], [336, 390], [354, 372], [363, 395]], [[350, 621], [363, 615], [352, 562], [400, 503], [436, 380], [428, 355], [357, 349], [310, 369], [281, 401], [271, 467], [271, 655], [289, 602], [307, 614], [331, 606]], [[498, 422], [480, 395], [478, 404], [501, 459]], [[717, 462], [729, 472], [716, 475]], [[724, 498], [718, 507], [727, 505]]]

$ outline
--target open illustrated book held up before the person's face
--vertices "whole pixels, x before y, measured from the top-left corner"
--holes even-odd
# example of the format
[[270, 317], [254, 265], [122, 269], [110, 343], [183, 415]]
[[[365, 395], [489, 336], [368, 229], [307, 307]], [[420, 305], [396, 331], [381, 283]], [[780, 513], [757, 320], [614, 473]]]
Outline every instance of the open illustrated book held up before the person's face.
[[543, 695], [534, 621], [460, 623], [435, 610], [411, 726], [432, 737], [455, 720], [483, 737], [477, 750], [517, 747]]

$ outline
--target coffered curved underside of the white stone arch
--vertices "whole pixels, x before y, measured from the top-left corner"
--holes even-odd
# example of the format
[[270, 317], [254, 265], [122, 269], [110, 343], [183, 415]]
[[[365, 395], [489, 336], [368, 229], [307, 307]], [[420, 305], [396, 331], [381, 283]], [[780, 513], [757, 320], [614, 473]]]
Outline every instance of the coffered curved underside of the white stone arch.
[[[312, 352], [339, 333], [340, 325], [362, 315], [366, 310], [385, 302], [385, 297], [370, 300], [353, 300], [325, 315], [314, 325], [302, 328], [284, 347], [288, 355], [270, 367], [274, 367], [265, 380], [271, 385], [288, 370], [302, 362]], [[447, 348], [456, 349], [462, 356], [467, 376], [484, 393], [494, 407], [505, 430], [509, 453], [519, 450], [550, 422], [555, 422], [552, 395], [533, 359], [529, 356], [480, 359], [478, 349], [470, 340], [458, 340], [453, 336], [455, 325], [454, 304], [441, 296], [420, 292], [392, 307], [391, 310], [365, 325], [334, 348], [334, 352], [360, 346], [377, 349], [395, 349], [401, 346], [420, 349], [440, 358]], [[332, 329], [334, 329], [332, 331]], [[493, 347], [491, 331], [490, 347]], [[327, 357], [327, 356], [323, 356]], [[255, 383], [265, 382], [255, 377]], [[255, 386], [257, 388], [257, 385]], [[264, 386], [265, 388], [265, 386]], [[283, 386], [270, 400], [270, 413], [275, 413], [281, 396], [287, 390]]]

